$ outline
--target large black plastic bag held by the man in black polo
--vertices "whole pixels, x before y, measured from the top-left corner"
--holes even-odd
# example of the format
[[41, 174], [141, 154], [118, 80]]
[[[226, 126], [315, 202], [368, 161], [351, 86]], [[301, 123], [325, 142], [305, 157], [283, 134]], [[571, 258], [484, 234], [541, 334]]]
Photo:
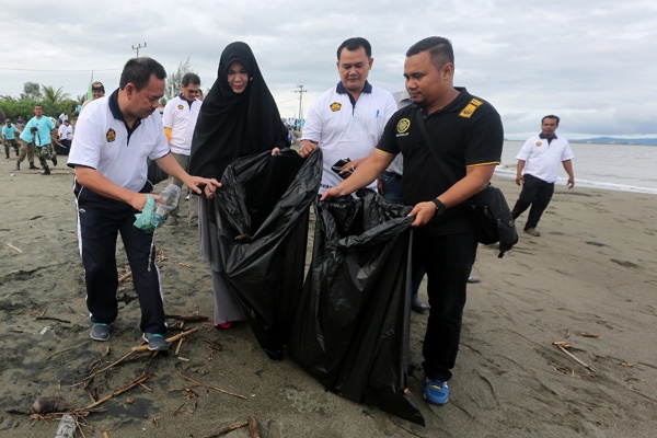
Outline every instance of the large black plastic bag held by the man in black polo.
[[364, 189], [315, 206], [313, 257], [288, 350], [347, 399], [424, 426], [406, 394], [410, 207]]

